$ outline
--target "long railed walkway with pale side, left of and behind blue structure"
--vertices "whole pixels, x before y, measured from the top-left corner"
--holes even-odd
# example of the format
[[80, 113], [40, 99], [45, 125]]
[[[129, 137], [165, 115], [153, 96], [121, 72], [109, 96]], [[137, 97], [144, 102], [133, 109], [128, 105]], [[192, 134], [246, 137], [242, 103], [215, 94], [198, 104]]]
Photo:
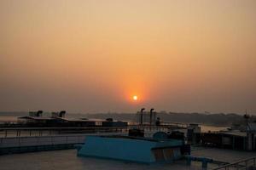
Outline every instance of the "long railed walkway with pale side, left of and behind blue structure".
[[42, 150], [63, 150], [83, 144], [88, 135], [127, 135], [129, 129], [144, 130], [145, 137], [158, 131], [167, 132], [173, 126], [129, 127], [19, 127], [0, 128], [0, 155]]

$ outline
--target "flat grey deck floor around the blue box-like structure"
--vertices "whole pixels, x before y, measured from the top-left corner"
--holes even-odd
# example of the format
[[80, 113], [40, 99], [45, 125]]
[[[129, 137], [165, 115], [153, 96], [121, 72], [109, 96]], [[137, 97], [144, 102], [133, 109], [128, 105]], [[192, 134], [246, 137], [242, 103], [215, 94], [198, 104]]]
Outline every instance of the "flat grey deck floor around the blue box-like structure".
[[[90, 157], [76, 156], [76, 150], [55, 150], [33, 152], [25, 154], [14, 154], [0, 156], [0, 164], [2, 170], [26, 169], [33, 170], [37, 167], [38, 170], [55, 169], [55, 170], [140, 170], [140, 169], [163, 169], [163, 170], [195, 170], [201, 169], [201, 162], [193, 162], [190, 167], [186, 166], [185, 161], [175, 161], [172, 164], [139, 164], [126, 161], [103, 160]], [[222, 150], [216, 148], [193, 147], [192, 156], [212, 157], [218, 161], [238, 161], [247, 157], [256, 156], [256, 152], [247, 152], [239, 150]], [[15, 163], [14, 163], [15, 162]], [[218, 167], [216, 164], [209, 164], [209, 169]]]

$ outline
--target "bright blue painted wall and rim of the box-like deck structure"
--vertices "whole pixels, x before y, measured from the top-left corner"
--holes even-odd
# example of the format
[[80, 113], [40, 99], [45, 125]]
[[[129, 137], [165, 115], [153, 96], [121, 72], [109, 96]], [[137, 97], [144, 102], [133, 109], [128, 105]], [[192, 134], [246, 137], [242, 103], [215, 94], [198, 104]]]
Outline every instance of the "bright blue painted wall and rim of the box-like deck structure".
[[154, 162], [151, 151], [155, 147], [182, 145], [182, 141], [148, 141], [142, 139], [88, 136], [78, 156], [95, 156], [123, 161]]

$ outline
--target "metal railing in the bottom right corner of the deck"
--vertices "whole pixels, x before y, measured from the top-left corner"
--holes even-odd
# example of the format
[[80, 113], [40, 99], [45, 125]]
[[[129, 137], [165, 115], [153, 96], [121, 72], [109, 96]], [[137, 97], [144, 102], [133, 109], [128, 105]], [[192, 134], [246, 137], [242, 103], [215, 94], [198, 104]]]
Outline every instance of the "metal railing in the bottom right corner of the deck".
[[241, 170], [241, 169], [246, 169], [246, 170], [251, 170], [251, 169], [256, 169], [255, 167], [256, 163], [256, 157], [250, 157], [247, 159], [243, 159], [241, 161], [236, 161], [221, 167], [216, 167], [213, 170]]

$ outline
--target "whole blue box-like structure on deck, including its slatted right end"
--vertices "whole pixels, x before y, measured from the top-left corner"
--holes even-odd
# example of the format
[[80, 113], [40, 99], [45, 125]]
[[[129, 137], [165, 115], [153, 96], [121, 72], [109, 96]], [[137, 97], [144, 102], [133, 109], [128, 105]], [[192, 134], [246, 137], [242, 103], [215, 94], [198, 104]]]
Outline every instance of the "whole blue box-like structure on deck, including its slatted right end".
[[88, 136], [78, 147], [78, 156], [153, 163], [174, 161], [183, 156], [183, 141], [127, 136]]

